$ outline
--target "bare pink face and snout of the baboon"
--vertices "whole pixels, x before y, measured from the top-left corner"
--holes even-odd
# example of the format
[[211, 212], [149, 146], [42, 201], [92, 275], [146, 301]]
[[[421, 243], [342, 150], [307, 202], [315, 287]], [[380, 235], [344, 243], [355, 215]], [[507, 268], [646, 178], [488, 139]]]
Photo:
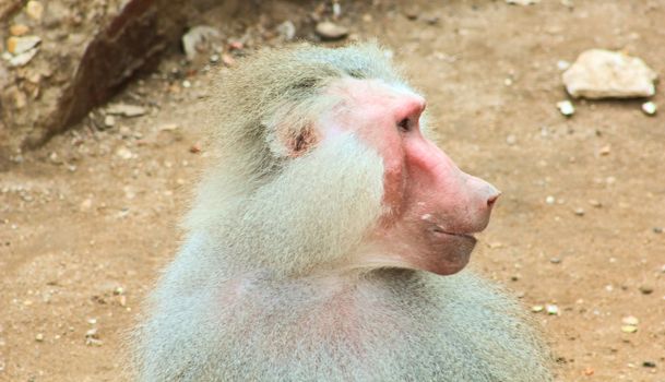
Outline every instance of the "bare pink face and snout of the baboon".
[[[453, 274], [468, 262], [499, 191], [467, 175], [420, 131], [425, 99], [376, 80], [341, 80], [346, 103], [324, 132], [353, 131], [383, 157], [387, 213], [360, 262]], [[352, 106], [352, 107], [351, 107]]]

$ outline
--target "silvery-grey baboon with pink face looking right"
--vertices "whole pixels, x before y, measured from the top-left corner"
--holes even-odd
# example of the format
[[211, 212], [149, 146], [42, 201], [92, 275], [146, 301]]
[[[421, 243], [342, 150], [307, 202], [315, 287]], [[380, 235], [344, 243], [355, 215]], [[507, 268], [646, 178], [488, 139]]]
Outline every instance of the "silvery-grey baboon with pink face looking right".
[[551, 380], [519, 305], [458, 274], [499, 192], [426, 138], [380, 47], [261, 51], [211, 98], [214, 160], [138, 380]]

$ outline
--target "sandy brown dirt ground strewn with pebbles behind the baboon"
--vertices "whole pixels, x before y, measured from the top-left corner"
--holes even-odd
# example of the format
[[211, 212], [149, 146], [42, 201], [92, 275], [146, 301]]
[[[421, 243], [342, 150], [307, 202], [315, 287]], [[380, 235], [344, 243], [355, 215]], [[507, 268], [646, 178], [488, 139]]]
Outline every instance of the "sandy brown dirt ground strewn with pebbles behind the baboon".
[[[665, 1], [406, 3], [342, 2], [337, 22], [393, 50], [440, 146], [503, 191], [471, 267], [524, 309], [558, 308], [532, 314], [560, 381], [665, 381], [665, 116], [575, 102], [566, 119], [555, 106], [567, 97], [557, 62], [587, 48], [665, 75]], [[114, 100], [146, 116], [98, 129], [102, 108], [0, 172], [0, 381], [126, 380], [123, 337], [178, 246], [206, 156], [198, 116], [222, 65], [181, 61], [174, 52]], [[662, 86], [653, 100], [665, 108]]]

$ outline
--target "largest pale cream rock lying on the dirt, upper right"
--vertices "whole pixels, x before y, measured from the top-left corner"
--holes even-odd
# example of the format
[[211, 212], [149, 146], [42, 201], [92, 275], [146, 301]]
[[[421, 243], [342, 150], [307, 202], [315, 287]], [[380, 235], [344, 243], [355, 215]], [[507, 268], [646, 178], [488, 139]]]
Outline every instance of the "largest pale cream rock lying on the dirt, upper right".
[[650, 97], [656, 77], [641, 59], [603, 49], [582, 52], [562, 74], [570, 95], [590, 99]]

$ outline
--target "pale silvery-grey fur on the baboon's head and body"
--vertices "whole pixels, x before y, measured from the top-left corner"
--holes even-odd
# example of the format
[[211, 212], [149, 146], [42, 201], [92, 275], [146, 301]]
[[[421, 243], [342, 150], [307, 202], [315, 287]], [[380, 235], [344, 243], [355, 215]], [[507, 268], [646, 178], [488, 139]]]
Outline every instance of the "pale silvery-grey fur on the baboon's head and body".
[[521, 307], [472, 273], [340, 271], [382, 212], [380, 157], [343, 134], [287, 159], [271, 134], [346, 76], [404, 85], [372, 45], [264, 52], [223, 80], [219, 164], [136, 329], [139, 381], [551, 380]]

